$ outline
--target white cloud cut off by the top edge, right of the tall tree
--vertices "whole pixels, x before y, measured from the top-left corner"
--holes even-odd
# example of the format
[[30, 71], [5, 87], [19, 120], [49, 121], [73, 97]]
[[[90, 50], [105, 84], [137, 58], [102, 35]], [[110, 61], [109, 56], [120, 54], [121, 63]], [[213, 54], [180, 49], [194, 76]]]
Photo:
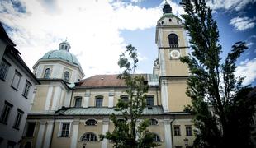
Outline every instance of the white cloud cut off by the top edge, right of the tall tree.
[[207, 0], [207, 5], [211, 9], [225, 9], [227, 11], [235, 9], [239, 11], [246, 7], [248, 4], [254, 3], [256, 0]]

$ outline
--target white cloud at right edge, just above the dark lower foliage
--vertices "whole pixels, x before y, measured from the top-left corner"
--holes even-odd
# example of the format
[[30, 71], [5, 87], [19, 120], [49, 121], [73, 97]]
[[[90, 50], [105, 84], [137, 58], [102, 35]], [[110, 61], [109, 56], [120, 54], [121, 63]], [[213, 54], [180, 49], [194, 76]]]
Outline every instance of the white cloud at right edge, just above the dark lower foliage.
[[243, 85], [249, 85], [256, 80], [256, 58], [249, 60], [246, 59], [244, 62], [240, 62], [237, 67], [235, 76], [245, 76]]

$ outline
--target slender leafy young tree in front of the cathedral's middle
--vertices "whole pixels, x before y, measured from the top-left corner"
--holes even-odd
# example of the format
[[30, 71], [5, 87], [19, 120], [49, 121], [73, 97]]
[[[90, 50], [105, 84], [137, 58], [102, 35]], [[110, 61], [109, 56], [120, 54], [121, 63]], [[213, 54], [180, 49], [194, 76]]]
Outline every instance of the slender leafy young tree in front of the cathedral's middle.
[[[128, 101], [118, 100], [116, 111], [121, 113], [122, 119], [117, 119], [116, 114], [111, 115], [111, 121], [115, 125], [113, 132], [107, 132], [101, 135], [101, 140], [107, 138], [114, 142], [116, 148], [149, 148], [159, 146], [154, 142], [153, 134], [149, 133], [149, 121], [142, 119], [143, 110], [146, 107], [146, 93], [149, 86], [147, 81], [141, 75], [135, 75], [135, 68], [139, 62], [137, 58], [137, 49], [132, 45], [126, 46], [126, 52], [121, 53], [118, 65], [123, 72], [118, 76], [126, 83], [126, 94], [129, 96]], [[129, 58], [126, 58], [128, 53]]]

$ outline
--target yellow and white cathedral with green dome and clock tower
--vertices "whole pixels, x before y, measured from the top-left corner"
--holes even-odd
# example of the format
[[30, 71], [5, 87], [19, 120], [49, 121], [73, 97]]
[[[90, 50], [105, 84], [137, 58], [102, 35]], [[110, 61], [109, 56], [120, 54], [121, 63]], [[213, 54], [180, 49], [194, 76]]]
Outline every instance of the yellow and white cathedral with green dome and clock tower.
[[[163, 16], [157, 21], [155, 43], [158, 45], [153, 73], [142, 74], [149, 84], [147, 108], [149, 132], [154, 141], [166, 148], [192, 146], [192, 116], [183, 111], [191, 104], [185, 94], [187, 65], [179, 58], [187, 56], [187, 36], [182, 20], [165, 3]], [[112, 147], [99, 140], [100, 134], [113, 131], [110, 115], [118, 99], [128, 99], [126, 84], [117, 75], [96, 75], [83, 79], [83, 69], [67, 41], [49, 51], [34, 65], [40, 85], [26, 120], [23, 147]], [[85, 72], [86, 73], [86, 72]], [[121, 116], [119, 116], [121, 118]]]

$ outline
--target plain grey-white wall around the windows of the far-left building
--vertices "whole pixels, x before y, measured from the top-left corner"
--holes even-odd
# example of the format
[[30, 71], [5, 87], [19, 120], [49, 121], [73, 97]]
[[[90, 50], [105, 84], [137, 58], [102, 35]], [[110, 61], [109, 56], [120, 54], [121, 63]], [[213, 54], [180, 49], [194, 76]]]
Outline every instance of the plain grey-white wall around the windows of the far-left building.
[[[1, 48], [4, 47], [4, 45], [0, 45]], [[5, 49], [5, 48], [4, 48]], [[4, 51], [4, 49], [0, 49], [1, 51]], [[7, 54], [4, 54], [2, 56], [7, 62], [11, 64], [11, 66], [8, 69], [7, 76], [4, 81], [0, 79], [0, 113], [2, 115], [2, 111], [4, 109], [5, 101], [12, 104], [11, 112], [7, 119], [7, 124], [0, 123], [0, 137], [3, 138], [3, 141], [0, 143], [0, 147], [6, 147], [7, 141], [13, 141], [18, 143], [21, 141], [21, 136], [23, 129], [25, 127], [26, 123], [26, 116], [29, 110], [31, 109], [31, 100], [33, 96], [33, 90], [35, 89], [35, 86], [37, 82], [35, 80], [31, 79], [31, 76], [28, 76], [26, 70], [24, 67], [17, 63], [16, 59], [7, 56]], [[0, 63], [2, 62], [2, 58], [0, 59]], [[12, 79], [15, 75], [15, 72], [21, 73], [21, 79], [18, 84], [17, 90], [12, 88]], [[24, 97], [22, 95], [26, 81], [29, 81], [31, 83], [31, 87], [29, 90], [29, 93], [27, 97]], [[23, 115], [21, 117], [21, 123], [19, 126], [19, 129], [13, 128], [13, 125], [17, 118], [17, 109], [21, 109], [23, 111]], [[16, 145], [18, 147], [18, 145]]]

